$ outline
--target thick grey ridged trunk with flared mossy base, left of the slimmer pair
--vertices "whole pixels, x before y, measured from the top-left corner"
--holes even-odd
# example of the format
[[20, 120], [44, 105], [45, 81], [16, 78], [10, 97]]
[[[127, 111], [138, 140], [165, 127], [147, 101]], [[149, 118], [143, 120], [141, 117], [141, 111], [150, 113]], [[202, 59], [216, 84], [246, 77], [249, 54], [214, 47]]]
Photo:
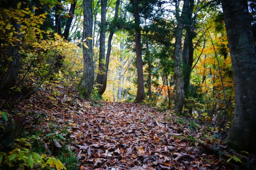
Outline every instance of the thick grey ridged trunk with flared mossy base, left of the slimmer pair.
[[[92, 1], [83, 0], [84, 6], [84, 23], [83, 23], [83, 39], [92, 37]], [[91, 94], [94, 83], [94, 68], [92, 61], [92, 40], [87, 39], [86, 45], [88, 49], [83, 45], [83, 58], [84, 58], [84, 73], [78, 83], [76, 89], [78, 92], [88, 98]]]

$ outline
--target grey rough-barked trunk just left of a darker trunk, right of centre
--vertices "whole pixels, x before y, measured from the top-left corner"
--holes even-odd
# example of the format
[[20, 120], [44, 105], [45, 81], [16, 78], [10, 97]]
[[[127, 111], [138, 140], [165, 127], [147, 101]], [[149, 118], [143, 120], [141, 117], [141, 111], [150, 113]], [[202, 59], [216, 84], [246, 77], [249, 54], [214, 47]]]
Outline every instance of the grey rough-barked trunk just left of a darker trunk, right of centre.
[[179, 113], [182, 112], [184, 102], [185, 102], [185, 92], [184, 92], [184, 79], [182, 72], [182, 55], [181, 55], [181, 39], [182, 39], [182, 31], [184, 28], [184, 24], [182, 21], [184, 20], [184, 16], [186, 15], [188, 9], [189, 0], [184, 0], [182, 14], [180, 19], [178, 20], [178, 26], [175, 37], [175, 45], [174, 45], [174, 76], [175, 76], [175, 90], [176, 90], [176, 100], [174, 110]]

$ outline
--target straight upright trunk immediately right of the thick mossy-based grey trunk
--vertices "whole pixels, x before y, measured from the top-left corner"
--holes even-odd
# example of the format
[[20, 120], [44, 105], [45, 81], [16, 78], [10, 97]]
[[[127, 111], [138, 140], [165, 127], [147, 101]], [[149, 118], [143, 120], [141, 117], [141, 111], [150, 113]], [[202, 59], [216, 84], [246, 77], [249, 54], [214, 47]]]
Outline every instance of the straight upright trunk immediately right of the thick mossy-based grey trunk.
[[100, 59], [98, 74], [96, 78], [97, 84], [100, 86], [103, 84], [103, 77], [105, 73], [105, 39], [106, 39], [106, 12], [107, 12], [107, 0], [101, 0], [101, 28], [100, 28]]

